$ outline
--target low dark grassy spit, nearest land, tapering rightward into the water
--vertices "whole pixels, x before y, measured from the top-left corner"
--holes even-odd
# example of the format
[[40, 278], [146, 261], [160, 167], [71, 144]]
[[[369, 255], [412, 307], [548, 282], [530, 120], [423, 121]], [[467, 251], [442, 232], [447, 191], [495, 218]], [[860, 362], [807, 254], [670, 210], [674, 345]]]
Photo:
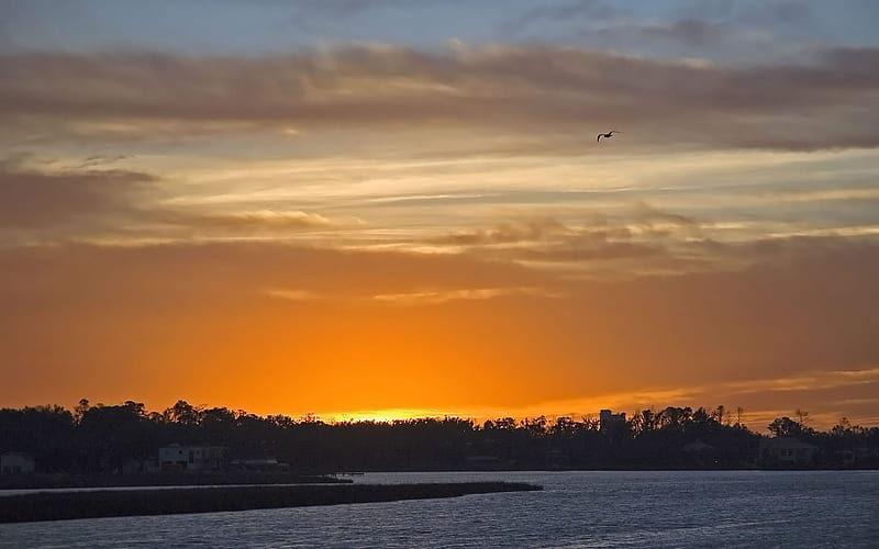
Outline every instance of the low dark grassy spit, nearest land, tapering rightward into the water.
[[461, 482], [38, 492], [0, 497], [0, 523], [304, 507], [533, 490], [543, 488], [515, 482]]

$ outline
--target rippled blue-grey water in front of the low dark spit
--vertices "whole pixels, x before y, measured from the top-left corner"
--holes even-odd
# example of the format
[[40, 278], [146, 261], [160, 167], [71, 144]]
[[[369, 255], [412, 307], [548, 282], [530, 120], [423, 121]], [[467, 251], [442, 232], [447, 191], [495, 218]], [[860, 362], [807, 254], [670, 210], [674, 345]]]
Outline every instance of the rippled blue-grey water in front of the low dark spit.
[[0, 525], [0, 547], [876, 547], [879, 472], [367, 473], [543, 492]]

